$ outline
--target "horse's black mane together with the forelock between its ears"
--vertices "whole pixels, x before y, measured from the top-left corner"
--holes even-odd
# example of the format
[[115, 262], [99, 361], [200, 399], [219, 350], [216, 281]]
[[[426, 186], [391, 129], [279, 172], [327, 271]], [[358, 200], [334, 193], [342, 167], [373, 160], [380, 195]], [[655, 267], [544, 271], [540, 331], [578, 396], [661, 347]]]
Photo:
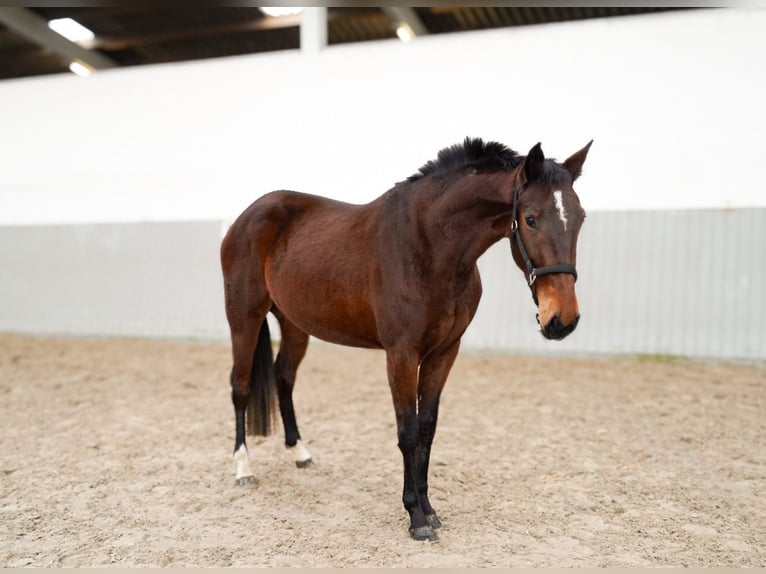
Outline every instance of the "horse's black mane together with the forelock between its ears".
[[[435, 160], [431, 160], [407, 178], [417, 181], [427, 175], [446, 174], [473, 165], [483, 169], [513, 170], [519, 167], [526, 156], [499, 142], [484, 142], [481, 138], [466, 137], [462, 144], [445, 147]], [[559, 184], [571, 179], [569, 172], [554, 159], [546, 158], [538, 178], [540, 183]]]

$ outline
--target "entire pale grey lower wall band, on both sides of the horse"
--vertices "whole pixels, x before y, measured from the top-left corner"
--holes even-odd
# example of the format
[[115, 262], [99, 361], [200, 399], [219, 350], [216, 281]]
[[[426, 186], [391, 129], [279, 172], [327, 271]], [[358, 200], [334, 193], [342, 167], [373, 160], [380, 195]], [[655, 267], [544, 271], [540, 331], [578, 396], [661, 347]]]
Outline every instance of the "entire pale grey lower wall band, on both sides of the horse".
[[[0, 330], [226, 338], [221, 232], [220, 222], [0, 227]], [[564, 341], [538, 333], [508, 241], [479, 267], [484, 296], [464, 348], [766, 359], [766, 209], [590, 214], [582, 319]]]

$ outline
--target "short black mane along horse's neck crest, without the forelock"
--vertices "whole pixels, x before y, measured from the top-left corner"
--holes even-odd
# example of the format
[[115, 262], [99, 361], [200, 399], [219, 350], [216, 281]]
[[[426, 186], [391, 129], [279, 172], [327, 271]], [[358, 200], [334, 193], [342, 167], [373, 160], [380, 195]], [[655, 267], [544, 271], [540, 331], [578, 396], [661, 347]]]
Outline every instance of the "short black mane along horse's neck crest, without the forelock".
[[512, 170], [523, 161], [524, 156], [520, 156], [504, 144], [466, 137], [462, 144], [445, 147], [435, 160], [423, 165], [417, 173], [407, 179], [416, 181], [427, 175], [445, 174], [468, 165]]

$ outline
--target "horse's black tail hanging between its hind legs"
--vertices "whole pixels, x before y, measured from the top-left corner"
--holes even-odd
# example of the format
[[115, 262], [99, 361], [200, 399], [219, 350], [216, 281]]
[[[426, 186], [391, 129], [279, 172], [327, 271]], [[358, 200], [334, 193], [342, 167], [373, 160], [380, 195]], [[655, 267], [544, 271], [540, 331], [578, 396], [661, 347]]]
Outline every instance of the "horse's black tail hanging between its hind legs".
[[269, 322], [263, 318], [250, 370], [250, 401], [247, 404], [247, 432], [269, 436], [277, 408], [277, 384], [274, 374], [274, 351], [271, 348]]

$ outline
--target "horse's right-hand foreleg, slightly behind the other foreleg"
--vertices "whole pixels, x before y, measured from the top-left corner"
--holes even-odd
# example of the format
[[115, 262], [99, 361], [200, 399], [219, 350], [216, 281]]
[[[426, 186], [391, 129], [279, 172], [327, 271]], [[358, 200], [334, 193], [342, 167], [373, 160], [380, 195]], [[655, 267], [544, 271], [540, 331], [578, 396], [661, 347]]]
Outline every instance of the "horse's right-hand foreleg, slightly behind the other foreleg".
[[428, 499], [428, 466], [431, 459], [431, 445], [436, 435], [436, 421], [439, 416], [439, 399], [447, 375], [457, 357], [460, 342], [457, 341], [444, 351], [431, 353], [420, 365], [418, 374], [418, 426], [420, 431], [417, 449], [416, 487], [423, 512], [432, 528], [441, 527]]

